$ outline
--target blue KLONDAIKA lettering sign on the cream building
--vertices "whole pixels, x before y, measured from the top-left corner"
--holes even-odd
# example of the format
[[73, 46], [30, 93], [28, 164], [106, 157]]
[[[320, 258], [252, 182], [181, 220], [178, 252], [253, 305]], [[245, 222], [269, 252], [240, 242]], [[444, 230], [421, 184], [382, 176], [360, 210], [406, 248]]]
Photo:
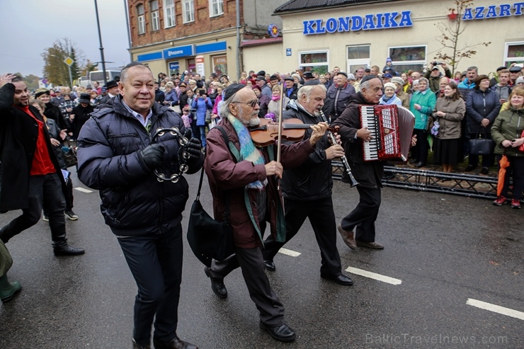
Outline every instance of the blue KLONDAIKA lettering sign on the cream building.
[[304, 21], [304, 35], [348, 32], [358, 30], [412, 27], [411, 11], [385, 12], [365, 16], [346, 16]]

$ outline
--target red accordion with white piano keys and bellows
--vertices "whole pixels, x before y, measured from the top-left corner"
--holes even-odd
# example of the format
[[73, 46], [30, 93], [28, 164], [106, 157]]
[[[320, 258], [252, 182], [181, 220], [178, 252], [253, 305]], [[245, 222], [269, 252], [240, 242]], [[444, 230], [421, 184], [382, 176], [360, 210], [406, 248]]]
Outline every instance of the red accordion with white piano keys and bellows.
[[407, 161], [415, 115], [398, 105], [360, 105], [360, 124], [372, 139], [363, 142], [364, 161]]

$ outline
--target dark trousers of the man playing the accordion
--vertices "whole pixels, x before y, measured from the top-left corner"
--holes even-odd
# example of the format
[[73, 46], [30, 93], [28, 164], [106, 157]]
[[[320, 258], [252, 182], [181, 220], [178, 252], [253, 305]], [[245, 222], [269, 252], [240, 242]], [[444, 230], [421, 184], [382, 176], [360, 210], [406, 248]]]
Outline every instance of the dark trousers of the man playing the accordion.
[[364, 188], [357, 185], [360, 201], [355, 210], [343, 217], [341, 225], [344, 230], [355, 231], [355, 239], [365, 242], [375, 241], [375, 220], [380, 209], [380, 187]]

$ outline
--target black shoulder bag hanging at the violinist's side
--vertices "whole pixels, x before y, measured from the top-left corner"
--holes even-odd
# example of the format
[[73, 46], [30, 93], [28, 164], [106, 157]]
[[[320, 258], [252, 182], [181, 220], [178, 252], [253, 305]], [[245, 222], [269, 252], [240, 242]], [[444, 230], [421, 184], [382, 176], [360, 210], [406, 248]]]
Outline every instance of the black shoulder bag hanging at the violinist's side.
[[200, 170], [198, 192], [188, 222], [188, 243], [196, 258], [208, 268], [212, 259], [224, 261], [234, 253], [233, 229], [229, 222], [229, 195], [226, 196], [224, 221], [213, 219], [200, 203], [200, 189], [204, 178], [204, 168]]

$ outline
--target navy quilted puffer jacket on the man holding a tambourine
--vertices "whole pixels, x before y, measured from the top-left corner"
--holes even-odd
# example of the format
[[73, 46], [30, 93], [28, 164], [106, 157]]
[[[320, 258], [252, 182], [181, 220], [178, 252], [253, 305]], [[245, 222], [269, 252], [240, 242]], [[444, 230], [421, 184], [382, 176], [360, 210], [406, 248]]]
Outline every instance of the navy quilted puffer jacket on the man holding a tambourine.
[[[186, 131], [182, 119], [170, 108], [154, 103], [151, 128], [178, 127]], [[147, 168], [139, 151], [152, 144], [151, 134], [122, 102], [102, 105], [87, 120], [78, 141], [78, 177], [89, 188], [99, 190], [101, 212], [106, 224], [118, 236], [137, 236], [173, 231], [182, 220], [188, 200], [188, 183], [159, 182]], [[178, 172], [179, 144], [171, 132], [156, 139], [165, 147], [162, 173]], [[195, 173], [203, 157], [188, 163]]]

